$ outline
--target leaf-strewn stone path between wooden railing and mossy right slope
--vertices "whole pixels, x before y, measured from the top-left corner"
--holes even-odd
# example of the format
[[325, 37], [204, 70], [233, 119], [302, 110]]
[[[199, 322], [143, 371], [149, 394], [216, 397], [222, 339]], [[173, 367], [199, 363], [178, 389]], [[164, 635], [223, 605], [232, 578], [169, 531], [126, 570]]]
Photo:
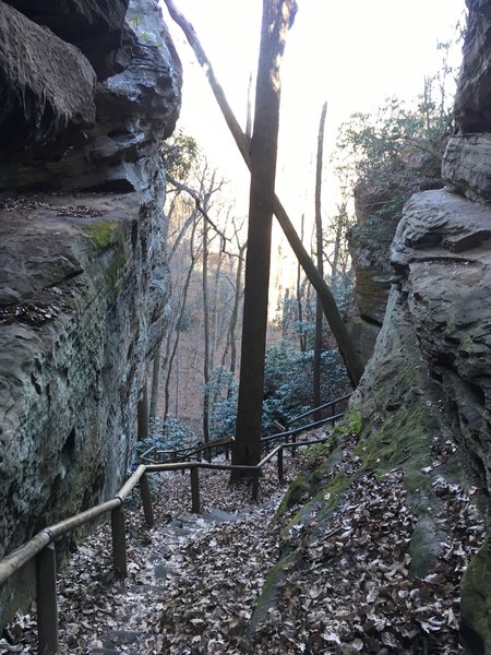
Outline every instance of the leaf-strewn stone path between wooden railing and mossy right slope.
[[[112, 573], [107, 524], [62, 570], [60, 653], [232, 653], [224, 635], [233, 642], [242, 633], [278, 559], [274, 512], [300, 462], [286, 461], [283, 484], [272, 464], [258, 503], [247, 483], [230, 487], [228, 473], [201, 471], [201, 515], [188, 513], [188, 472], [154, 476], [155, 528], [145, 526], [137, 499], [127, 510], [128, 577]], [[35, 608], [17, 616], [0, 654], [36, 653], [35, 620]]]

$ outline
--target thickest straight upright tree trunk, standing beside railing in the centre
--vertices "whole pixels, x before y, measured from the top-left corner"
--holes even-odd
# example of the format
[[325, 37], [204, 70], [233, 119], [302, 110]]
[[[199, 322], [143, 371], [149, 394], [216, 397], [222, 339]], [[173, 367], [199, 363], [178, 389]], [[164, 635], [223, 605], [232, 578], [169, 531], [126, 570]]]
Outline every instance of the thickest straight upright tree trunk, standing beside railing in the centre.
[[292, 15], [291, 1], [263, 0], [251, 140], [248, 252], [233, 464], [251, 465], [261, 460], [271, 230], [279, 126], [279, 63]]

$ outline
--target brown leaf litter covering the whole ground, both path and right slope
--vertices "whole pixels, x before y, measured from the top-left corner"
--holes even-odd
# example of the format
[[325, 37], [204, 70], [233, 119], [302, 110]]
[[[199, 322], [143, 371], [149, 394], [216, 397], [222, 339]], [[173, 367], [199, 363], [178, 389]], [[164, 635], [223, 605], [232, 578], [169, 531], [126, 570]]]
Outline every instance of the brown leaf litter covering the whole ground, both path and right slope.
[[[351, 474], [348, 448], [338, 465]], [[454, 655], [459, 580], [483, 539], [482, 521], [458, 487], [438, 478], [439, 520], [446, 540], [432, 573], [409, 575], [416, 517], [403, 472], [364, 474], [327, 529], [302, 525], [287, 537], [292, 564], [283, 568], [266, 616], [248, 632], [266, 576], [285, 548], [291, 513], [275, 510], [302, 465], [285, 458], [285, 480], [271, 463], [258, 503], [251, 483], [200, 471], [202, 514], [189, 513], [189, 472], [153, 476], [156, 526], [144, 525], [139, 499], [127, 509], [128, 577], [112, 572], [110, 528], [100, 524], [71, 557], [58, 583], [60, 653]], [[315, 521], [315, 517], [313, 517]], [[0, 654], [35, 653], [35, 608], [9, 626]]]

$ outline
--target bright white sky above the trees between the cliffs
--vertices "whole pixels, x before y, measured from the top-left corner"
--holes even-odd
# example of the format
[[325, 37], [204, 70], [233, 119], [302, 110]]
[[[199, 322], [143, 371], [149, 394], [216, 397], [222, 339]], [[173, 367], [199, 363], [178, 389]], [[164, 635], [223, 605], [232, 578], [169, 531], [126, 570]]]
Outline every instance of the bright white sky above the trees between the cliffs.
[[[229, 104], [243, 124], [249, 75], [258, 62], [261, 0], [176, 3], [194, 25]], [[326, 159], [339, 124], [350, 114], [374, 110], [387, 96], [410, 100], [422, 92], [424, 75], [439, 69], [436, 43], [452, 37], [464, 15], [465, 1], [298, 0], [298, 8], [282, 66], [276, 184], [297, 224], [303, 211], [313, 213], [311, 171], [323, 102], [328, 104]], [[221, 175], [231, 179], [238, 214], [247, 215], [246, 166], [201, 67], [165, 10], [164, 15], [184, 66], [178, 124], [197, 140]]]

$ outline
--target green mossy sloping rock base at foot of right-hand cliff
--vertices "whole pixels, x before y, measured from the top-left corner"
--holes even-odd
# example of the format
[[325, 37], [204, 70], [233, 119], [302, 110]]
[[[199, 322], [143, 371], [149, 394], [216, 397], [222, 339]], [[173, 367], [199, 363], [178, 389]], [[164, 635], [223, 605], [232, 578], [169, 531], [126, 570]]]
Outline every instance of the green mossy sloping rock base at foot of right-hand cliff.
[[[403, 471], [406, 502], [415, 516], [407, 545], [409, 575], [426, 577], [441, 555], [445, 533], [438, 520], [442, 499], [435, 491], [436, 480], [465, 487], [468, 472], [455, 444], [447, 445], [443, 403], [427, 370], [419, 366], [416, 336], [405, 330], [406, 310], [393, 299], [390, 311], [398, 331], [382, 331], [379, 355], [370, 362], [347, 416], [333, 439], [313, 451], [279, 507], [278, 516], [285, 521], [280, 533], [284, 559], [266, 579], [252, 627], [263, 620], [274, 604], [275, 590], [285, 584], [284, 567], [300, 565], [304, 545], [330, 531], [333, 516], [347, 507], [351, 487], [364, 476], [381, 479], [394, 469]], [[301, 534], [301, 544], [294, 538], [296, 534]]]

